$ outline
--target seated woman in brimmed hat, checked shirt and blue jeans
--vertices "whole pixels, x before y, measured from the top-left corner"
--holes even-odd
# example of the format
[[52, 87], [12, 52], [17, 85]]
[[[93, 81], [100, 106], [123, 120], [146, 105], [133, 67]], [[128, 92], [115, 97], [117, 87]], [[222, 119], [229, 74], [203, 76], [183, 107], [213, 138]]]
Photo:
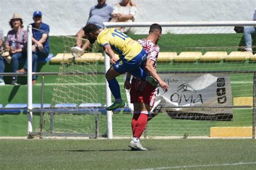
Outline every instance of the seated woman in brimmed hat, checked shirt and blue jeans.
[[[7, 34], [5, 47], [10, 50], [12, 72], [17, 72], [19, 59], [26, 58], [26, 43], [28, 35], [23, 29], [22, 18], [15, 13], [9, 22], [11, 30]], [[12, 85], [17, 85], [17, 76], [12, 76]]]

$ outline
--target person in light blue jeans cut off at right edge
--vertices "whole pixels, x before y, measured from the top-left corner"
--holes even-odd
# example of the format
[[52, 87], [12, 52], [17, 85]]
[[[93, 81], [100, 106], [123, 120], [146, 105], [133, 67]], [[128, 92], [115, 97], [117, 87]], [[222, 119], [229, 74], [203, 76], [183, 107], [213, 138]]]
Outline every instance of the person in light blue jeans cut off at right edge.
[[[253, 21], [256, 21], [256, 9], [253, 14]], [[256, 26], [245, 26], [244, 28], [244, 39], [245, 39], [245, 50], [252, 52], [252, 36], [255, 36]]]

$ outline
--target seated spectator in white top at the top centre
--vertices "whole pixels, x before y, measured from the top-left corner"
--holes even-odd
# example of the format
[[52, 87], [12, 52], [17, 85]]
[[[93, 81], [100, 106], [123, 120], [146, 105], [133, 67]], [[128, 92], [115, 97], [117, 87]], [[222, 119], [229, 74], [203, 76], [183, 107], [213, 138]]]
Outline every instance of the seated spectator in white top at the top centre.
[[[110, 22], [134, 22], [136, 18], [137, 7], [131, 0], [123, 0], [114, 6], [112, 19]], [[131, 29], [119, 28], [122, 32], [129, 32]]]

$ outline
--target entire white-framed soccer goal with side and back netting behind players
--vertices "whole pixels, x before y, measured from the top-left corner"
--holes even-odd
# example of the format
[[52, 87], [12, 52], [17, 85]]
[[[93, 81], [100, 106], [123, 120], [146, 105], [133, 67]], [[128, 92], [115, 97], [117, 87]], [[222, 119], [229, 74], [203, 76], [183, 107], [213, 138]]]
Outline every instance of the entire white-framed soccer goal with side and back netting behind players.
[[[107, 28], [125, 27], [133, 39], [146, 38], [151, 24], [105, 23]], [[163, 32], [158, 42], [157, 72], [169, 90], [164, 93], [158, 87], [144, 137], [254, 137], [256, 48], [252, 44], [253, 51], [245, 51], [243, 33], [236, 33], [234, 26], [255, 23], [158, 24]], [[131, 137], [133, 107], [129, 91], [123, 88], [124, 76], [117, 79], [126, 106], [114, 110], [112, 122], [107, 123], [104, 52], [94, 47], [73, 59], [70, 48], [76, 39], [62, 36], [62, 42], [63, 62], [53, 91], [53, 107], [44, 113], [43, 127], [37, 131], [79, 135], [93, 134], [99, 128], [98, 134], [111, 129], [113, 138]], [[114, 101], [113, 97], [110, 100]]]

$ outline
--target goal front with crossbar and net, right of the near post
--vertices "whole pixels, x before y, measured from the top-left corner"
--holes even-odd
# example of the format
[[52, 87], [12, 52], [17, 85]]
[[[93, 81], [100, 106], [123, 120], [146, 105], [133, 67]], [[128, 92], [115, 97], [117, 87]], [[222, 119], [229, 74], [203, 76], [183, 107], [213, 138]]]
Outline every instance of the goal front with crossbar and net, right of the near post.
[[[131, 28], [129, 36], [133, 39], [146, 38], [153, 23], [122, 24], [106, 23], [107, 27]], [[252, 138], [256, 40], [253, 51], [246, 51], [243, 33], [239, 32], [252, 23], [158, 24], [163, 33], [158, 42], [157, 72], [169, 84], [169, 90], [164, 93], [158, 87], [144, 136]], [[123, 77], [119, 77], [119, 83], [123, 87]], [[122, 90], [129, 103], [129, 91]], [[129, 106], [130, 110], [113, 114], [113, 136], [131, 137]]]

